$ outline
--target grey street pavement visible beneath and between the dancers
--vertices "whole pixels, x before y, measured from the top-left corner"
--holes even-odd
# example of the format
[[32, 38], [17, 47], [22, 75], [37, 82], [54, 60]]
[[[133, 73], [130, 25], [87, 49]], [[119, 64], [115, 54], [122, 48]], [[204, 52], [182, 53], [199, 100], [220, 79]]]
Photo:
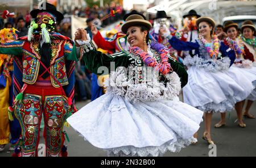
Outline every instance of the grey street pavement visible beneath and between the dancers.
[[[90, 101], [78, 102], [77, 108], [81, 108], [88, 104]], [[256, 115], [256, 103], [254, 102], [251, 107], [251, 113]], [[167, 152], [164, 157], [171, 156], [185, 156], [185, 157], [208, 157], [209, 153], [212, 153], [213, 149], [216, 149], [215, 156], [256, 156], [256, 119], [245, 119], [246, 128], [238, 127], [236, 120], [236, 112], [232, 111], [230, 115], [226, 115], [226, 126], [223, 128], [214, 128], [220, 120], [220, 114], [214, 114], [212, 119], [212, 138], [216, 144], [214, 147], [208, 146], [207, 142], [201, 137], [204, 132], [204, 122], [200, 124], [199, 138], [196, 145], [189, 145], [187, 148], [181, 149], [179, 153]], [[70, 157], [104, 157], [106, 152], [104, 150], [98, 149], [91, 145], [88, 141], [84, 141], [84, 138], [79, 136], [79, 133], [75, 132], [72, 127], [64, 128], [69, 136], [70, 142], [68, 145], [68, 153]], [[41, 132], [42, 133], [42, 132]], [[41, 135], [41, 143], [44, 143], [43, 137]], [[0, 152], [0, 157], [11, 156], [9, 152], [10, 145], [6, 145], [3, 152]]]

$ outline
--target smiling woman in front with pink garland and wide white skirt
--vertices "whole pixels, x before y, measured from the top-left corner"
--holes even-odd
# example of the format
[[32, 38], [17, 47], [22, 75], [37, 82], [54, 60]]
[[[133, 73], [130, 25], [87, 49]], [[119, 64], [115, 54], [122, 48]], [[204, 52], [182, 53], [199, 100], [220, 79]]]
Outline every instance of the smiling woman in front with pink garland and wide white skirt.
[[[203, 112], [177, 97], [187, 83], [187, 72], [164, 45], [148, 43], [150, 28], [142, 16], [130, 15], [122, 31], [131, 48], [110, 56], [96, 51], [84, 30], [76, 32], [76, 39], [81, 35], [77, 43], [84, 49], [82, 60], [89, 70], [98, 73], [100, 66], [110, 70], [112, 64], [115, 68], [107, 93], [67, 121], [108, 156], [162, 156], [167, 150], [179, 152], [196, 141], [193, 134], [200, 127]], [[118, 66], [129, 68], [128, 73]], [[154, 70], [150, 73], [146, 68]]]

